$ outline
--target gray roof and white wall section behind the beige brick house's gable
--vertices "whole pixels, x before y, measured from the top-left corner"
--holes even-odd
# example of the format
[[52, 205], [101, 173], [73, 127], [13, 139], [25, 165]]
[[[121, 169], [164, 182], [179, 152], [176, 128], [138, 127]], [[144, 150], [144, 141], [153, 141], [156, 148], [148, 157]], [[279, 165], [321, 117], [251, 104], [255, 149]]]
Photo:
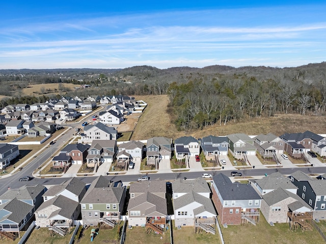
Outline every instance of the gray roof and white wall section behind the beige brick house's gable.
[[260, 196], [273, 192], [279, 187], [293, 194], [296, 194], [297, 191], [297, 187], [291, 182], [289, 177], [285, 177], [279, 172], [272, 173], [261, 179], [250, 179], [249, 183], [254, 187]]

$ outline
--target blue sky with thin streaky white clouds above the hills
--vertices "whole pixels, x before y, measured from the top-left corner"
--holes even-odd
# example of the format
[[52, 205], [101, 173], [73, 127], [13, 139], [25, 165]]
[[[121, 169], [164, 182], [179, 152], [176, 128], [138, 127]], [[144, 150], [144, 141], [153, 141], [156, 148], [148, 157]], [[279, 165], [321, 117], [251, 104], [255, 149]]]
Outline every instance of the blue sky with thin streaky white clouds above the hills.
[[0, 69], [326, 61], [324, 1], [1, 2]]

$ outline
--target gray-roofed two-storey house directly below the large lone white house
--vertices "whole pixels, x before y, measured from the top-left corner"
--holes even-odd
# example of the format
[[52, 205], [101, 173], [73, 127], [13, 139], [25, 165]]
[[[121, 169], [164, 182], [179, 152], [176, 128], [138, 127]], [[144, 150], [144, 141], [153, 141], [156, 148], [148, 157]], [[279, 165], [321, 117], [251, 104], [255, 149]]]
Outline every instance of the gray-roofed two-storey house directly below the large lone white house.
[[117, 153], [116, 140], [94, 140], [86, 156], [87, 167], [99, 167], [103, 162], [113, 162]]

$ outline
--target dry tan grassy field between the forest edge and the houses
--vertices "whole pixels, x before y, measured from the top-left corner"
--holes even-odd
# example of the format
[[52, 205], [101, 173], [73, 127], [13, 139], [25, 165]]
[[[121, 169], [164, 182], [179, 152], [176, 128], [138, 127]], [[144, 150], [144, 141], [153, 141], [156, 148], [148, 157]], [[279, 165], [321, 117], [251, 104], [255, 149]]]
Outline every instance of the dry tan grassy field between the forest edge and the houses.
[[326, 127], [325, 116], [280, 114], [270, 118], [246, 119], [236, 123], [232, 121], [222, 126], [215, 124], [207, 126], [202, 130], [184, 132], [177, 130], [176, 126], [171, 122], [174, 119], [166, 112], [169, 102], [167, 95], [135, 96], [135, 98], [146, 101], [148, 105], [132, 134], [132, 140], [145, 140], [151, 137], [175, 139], [184, 135], [203, 138], [207, 135], [227, 135], [232, 133], [258, 135], [271, 132], [281, 135], [284, 133], [304, 132], [306, 130], [324, 133], [324, 128]]

